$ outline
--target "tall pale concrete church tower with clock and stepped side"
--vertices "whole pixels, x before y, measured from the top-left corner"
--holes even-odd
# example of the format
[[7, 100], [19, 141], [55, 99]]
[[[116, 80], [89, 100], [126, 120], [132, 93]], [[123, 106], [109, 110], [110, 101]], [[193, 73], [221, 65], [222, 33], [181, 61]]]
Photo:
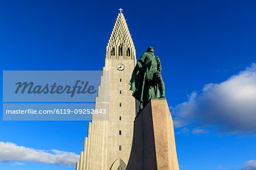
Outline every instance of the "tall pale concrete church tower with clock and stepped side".
[[96, 121], [96, 115], [92, 116], [76, 170], [125, 170], [129, 161], [137, 106], [128, 83], [137, 60], [126, 19], [119, 10], [106, 47], [103, 70], [109, 71], [109, 76], [101, 77], [95, 103], [95, 108], [102, 107], [100, 101], [106, 101], [109, 93], [109, 121]]

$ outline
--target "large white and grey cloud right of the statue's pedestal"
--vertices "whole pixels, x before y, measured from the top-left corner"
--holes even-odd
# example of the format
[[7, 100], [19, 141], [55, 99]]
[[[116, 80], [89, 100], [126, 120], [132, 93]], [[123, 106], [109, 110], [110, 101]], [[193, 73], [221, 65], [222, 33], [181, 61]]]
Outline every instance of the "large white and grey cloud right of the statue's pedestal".
[[175, 127], [198, 122], [220, 133], [256, 134], [256, 63], [220, 84], [207, 84], [175, 106]]

